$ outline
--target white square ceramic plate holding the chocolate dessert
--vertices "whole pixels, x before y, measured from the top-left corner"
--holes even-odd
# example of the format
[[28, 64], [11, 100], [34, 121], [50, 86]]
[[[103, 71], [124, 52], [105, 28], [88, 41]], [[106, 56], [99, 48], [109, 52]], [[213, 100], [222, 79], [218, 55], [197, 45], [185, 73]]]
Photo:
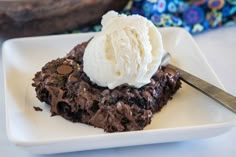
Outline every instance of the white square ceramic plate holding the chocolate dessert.
[[[180, 28], [160, 29], [175, 64], [222, 88], [191, 35]], [[48, 154], [206, 138], [228, 131], [236, 115], [186, 84], [143, 131], [104, 133], [102, 129], [50, 116], [31, 86], [34, 74], [65, 56], [93, 34], [8, 40], [3, 45], [6, 124], [10, 141], [32, 153]], [[43, 112], [36, 112], [39, 106]]]

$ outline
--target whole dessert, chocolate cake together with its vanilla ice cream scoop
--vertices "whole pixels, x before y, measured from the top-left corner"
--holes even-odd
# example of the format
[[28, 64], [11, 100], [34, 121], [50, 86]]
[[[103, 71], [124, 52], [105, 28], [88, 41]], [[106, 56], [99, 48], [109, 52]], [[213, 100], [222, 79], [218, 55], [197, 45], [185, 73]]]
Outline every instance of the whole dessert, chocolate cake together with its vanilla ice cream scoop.
[[142, 130], [180, 88], [179, 73], [160, 66], [162, 37], [144, 17], [110, 11], [102, 25], [42, 67], [32, 85], [52, 115], [106, 132]]

